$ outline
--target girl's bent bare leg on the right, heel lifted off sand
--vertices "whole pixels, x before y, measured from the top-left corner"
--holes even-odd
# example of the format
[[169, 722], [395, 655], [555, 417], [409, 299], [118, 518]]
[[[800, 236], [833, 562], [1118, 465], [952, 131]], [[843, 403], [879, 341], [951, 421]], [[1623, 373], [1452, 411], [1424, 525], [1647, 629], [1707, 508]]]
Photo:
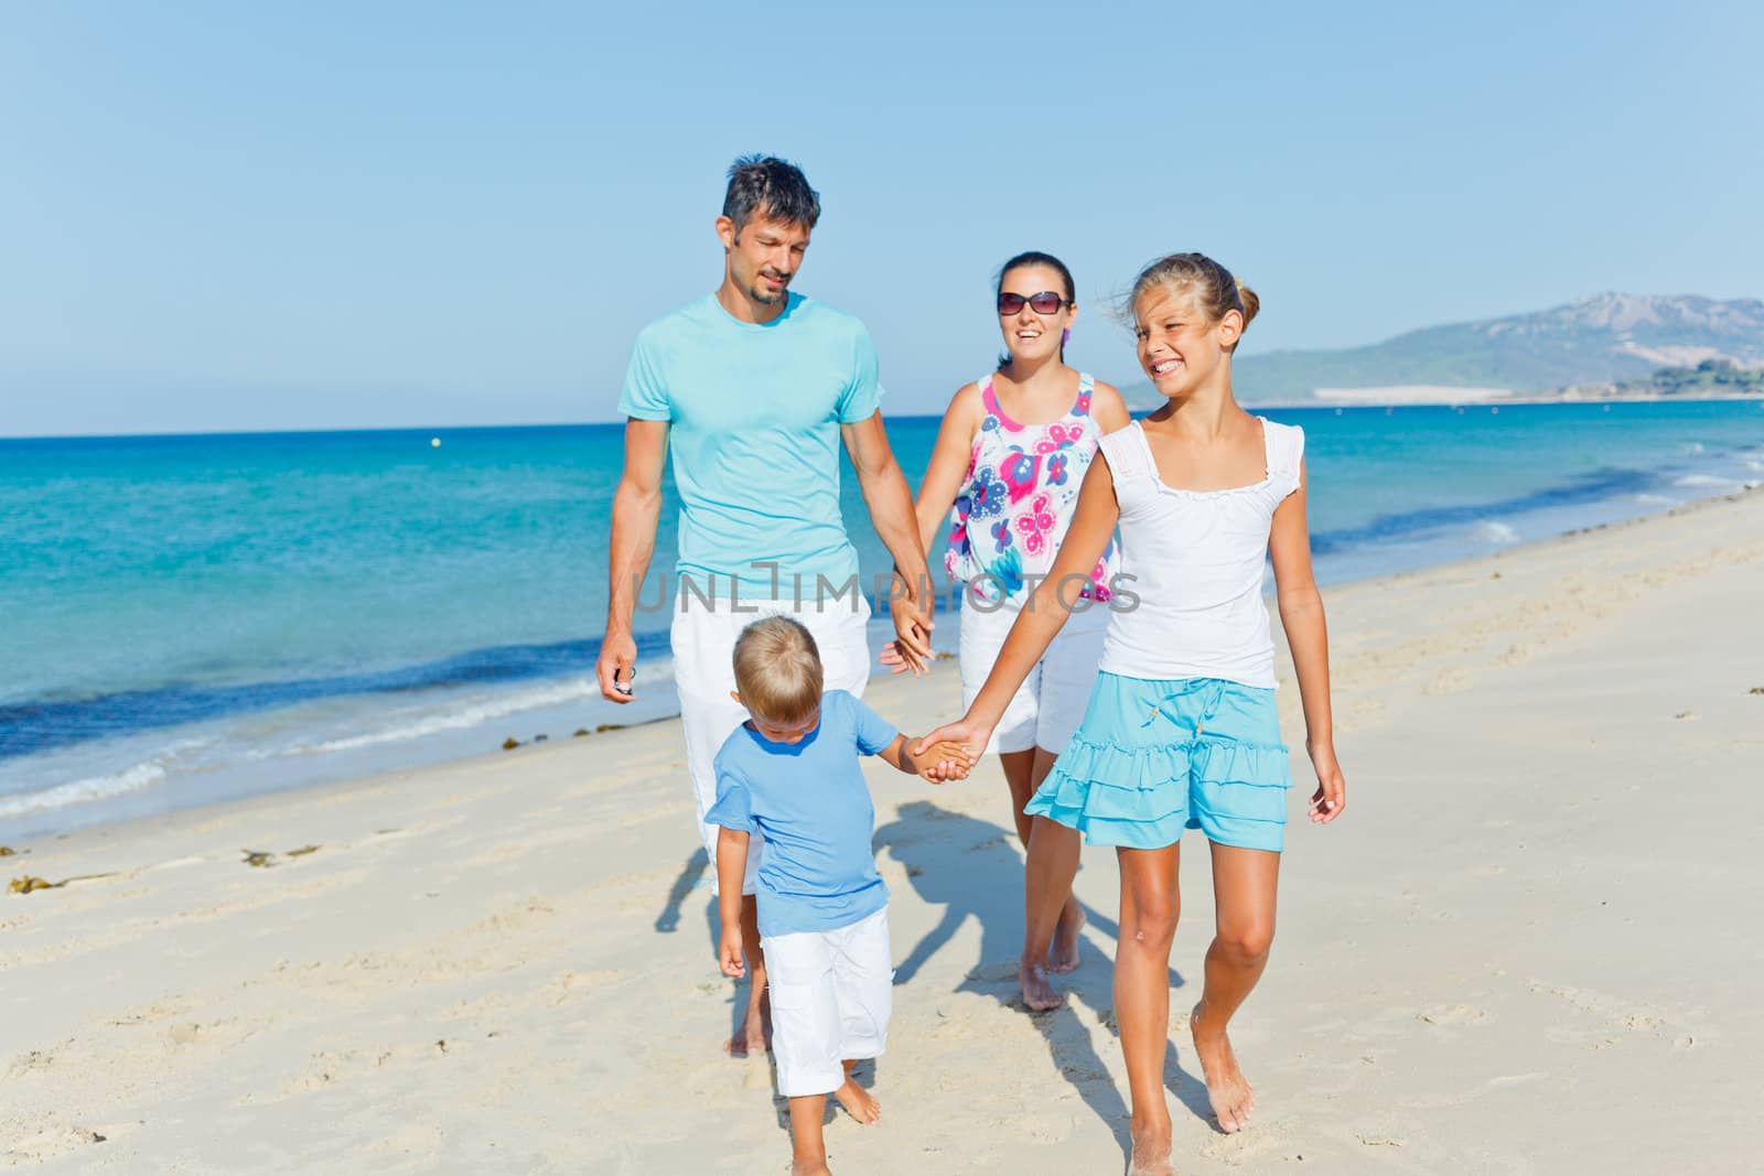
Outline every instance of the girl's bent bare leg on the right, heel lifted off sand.
[[1226, 1024], [1268, 964], [1281, 855], [1215, 843], [1212, 860], [1217, 931], [1207, 949], [1207, 987], [1189, 1016], [1189, 1031], [1219, 1128], [1238, 1132], [1256, 1109], [1256, 1091], [1237, 1068]]

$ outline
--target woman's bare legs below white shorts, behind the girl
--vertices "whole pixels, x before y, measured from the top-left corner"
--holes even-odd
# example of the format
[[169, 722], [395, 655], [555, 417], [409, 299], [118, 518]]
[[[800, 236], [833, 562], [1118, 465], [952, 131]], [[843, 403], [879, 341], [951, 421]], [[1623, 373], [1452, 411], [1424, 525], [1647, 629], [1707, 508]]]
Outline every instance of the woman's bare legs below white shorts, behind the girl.
[[[1073, 876], [1078, 873], [1081, 846], [1078, 830], [1023, 813], [1035, 788], [1041, 788], [1041, 781], [1053, 770], [1055, 758], [1044, 748], [1007, 751], [998, 756], [1005, 785], [1011, 788], [1011, 818], [1016, 822], [1016, 836], [1023, 843], [1027, 859], [1018, 986], [1023, 989], [1023, 1003], [1035, 1012], [1065, 1003], [1065, 998], [1048, 984], [1046, 973], [1071, 971], [1078, 966], [1078, 931], [1085, 926], [1085, 912], [1073, 897]], [[1041, 850], [1035, 848], [1037, 837], [1044, 841]]]

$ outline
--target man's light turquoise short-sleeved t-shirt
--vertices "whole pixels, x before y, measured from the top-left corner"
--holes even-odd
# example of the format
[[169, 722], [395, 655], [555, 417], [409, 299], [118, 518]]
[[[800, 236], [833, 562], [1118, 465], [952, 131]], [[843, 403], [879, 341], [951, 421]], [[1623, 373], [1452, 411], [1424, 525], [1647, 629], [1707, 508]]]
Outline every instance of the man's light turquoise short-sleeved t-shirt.
[[[840, 517], [840, 425], [882, 400], [870, 331], [789, 294], [771, 323], [743, 323], [714, 294], [637, 337], [619, 413], [669, 421], [679, 488], [679, 562], [704, 596], [804, 599], [817, 577], [841, 587], [857, 552]], [[713, 580], [714, 577], [714, 589]]]

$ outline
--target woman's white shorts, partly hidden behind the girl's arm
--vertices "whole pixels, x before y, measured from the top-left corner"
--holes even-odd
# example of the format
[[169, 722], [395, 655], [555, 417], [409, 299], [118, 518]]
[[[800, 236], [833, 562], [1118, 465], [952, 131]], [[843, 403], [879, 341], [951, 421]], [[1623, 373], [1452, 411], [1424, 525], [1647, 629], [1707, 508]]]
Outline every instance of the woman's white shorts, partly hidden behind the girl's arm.
[[[961, 707], [972, 707], [998, 661], [1004, 638], [1023, 608], [1025, 596], [1007, 598], [988, 612], [975, 603], [974, 592], [961, 598]], [[1048, 652], [1028, 672], [1016, 695], [993, 728], [986, 755], [1002, 751], [1028, 751], [1044, 748], [1053, 755], [1065, 751], [1065, 742], [1078, 732], [1078, 723], [1090, 705], [1090, 688], [1102, 663], [1102, 635], [1108, 631], [1110, 608], [1092, 603], [1083, 612], [1065, 619]]]

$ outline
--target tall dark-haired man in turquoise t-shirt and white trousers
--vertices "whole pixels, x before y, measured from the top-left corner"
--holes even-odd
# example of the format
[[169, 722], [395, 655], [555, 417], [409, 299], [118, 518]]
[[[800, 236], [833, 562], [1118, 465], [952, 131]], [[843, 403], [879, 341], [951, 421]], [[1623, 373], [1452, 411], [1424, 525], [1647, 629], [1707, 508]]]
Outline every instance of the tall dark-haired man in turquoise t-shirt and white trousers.
[[[662, 462], [672, 446], [681, 582], [663, 599], [679, 605], [674, 679], [713, 883], [716, 829], [704, 815], [716, 800], [716, 753], [746, 721], [732, 696], [741, 629], [760, 614], [790, 614], [820, 647], [827, 689], [863, 695], [870, 677], [870, 607], [840, 517], [840, 441], [870, 522], [894, 557], [889, 612], [900, 645], [914, 672], [930, 658], [930, 573], [912, 494], [882, 428], [870, 333], [852, 316], [789, 291], [818, 219], [820, 197], [794, 164], [737, 159], [716, 219], [723, 282], [639, 333], [619, 397], [628, 421], [612, 499], [600, 693], [612, 702], [633, 696], [632, 614], [654, 550]], [[729, 1042], [734, 1054], [766, 1047], [766, 961], [753, 901], [762, 857], [764, 850], [748, 853], [743, 885], [751, 979], [744, 1024]]]

